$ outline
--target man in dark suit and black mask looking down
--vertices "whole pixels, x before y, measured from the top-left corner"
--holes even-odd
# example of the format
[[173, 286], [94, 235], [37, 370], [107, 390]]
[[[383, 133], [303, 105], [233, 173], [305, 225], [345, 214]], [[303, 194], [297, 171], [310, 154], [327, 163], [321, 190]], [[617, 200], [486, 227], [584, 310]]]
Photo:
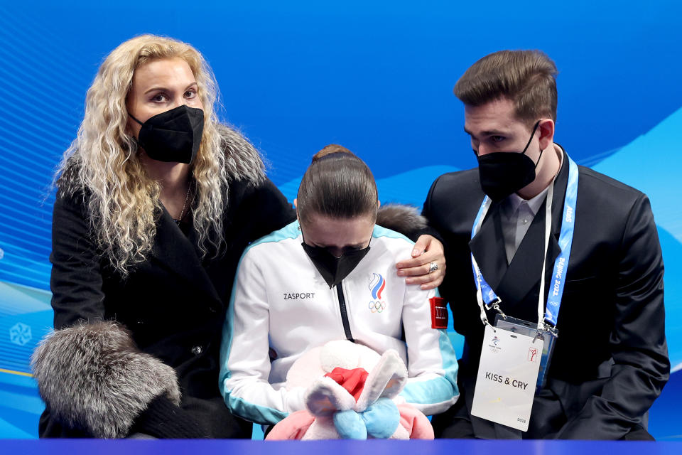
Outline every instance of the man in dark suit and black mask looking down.
[[[434, 417], [439, 437], [653, 439], [647, 411], [670, 371], [656, 225], [643, 193], [582, 166], [574, 168], [577, 200], [569, 218], [575, 225], [558, 336], [529, 429], [471, 414], [485, 327], [471, 254], [507, 316], [538, 323], [545, 251], [542, 301], [554, 291], [570, 187], [570, 159], [553, 141], [555, 77], [556, 66], [541, 52], [501, 51], [472, 65], [455, 85], [479, 168], [440, 176], [423, 209], [445, 245], [448, 271], [440, 293], [465, 336], [460, 400]], [[472, 237], [486, 195], [492, 202]], [[485, 314], [492, 322], [497, 311]]]

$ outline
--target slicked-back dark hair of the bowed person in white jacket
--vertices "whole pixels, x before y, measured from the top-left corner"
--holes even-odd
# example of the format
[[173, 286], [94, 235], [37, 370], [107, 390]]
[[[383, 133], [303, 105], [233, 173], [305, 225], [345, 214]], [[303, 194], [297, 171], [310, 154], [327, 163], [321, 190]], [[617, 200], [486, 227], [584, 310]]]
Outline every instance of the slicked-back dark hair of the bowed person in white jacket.
[[377, 183], [367, 164], [352, 151], [330, 144], [313, 156], [298, 187], [298, 218], [377, 216]]

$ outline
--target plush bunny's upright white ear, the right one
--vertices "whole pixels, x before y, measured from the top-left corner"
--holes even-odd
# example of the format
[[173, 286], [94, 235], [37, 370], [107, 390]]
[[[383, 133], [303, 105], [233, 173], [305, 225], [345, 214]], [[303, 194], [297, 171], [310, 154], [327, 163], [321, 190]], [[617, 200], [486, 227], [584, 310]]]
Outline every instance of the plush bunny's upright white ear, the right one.
[[407, 368], [395, 350], [389, 349], [381, 355], [379, 363], [364, 382], [364, 389], [357, 399], [354, 410], [362, 412], [381, 397], [393, 398], [407, 382]]

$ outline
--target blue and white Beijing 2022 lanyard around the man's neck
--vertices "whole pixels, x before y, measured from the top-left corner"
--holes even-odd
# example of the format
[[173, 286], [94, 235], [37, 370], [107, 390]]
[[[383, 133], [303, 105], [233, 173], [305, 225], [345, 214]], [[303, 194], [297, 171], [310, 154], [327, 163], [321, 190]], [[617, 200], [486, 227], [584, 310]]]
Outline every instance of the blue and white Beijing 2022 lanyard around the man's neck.
[[[575, 229], [575, 202], [578, 199], [578, 165], [570, 159], [568, 154], [565, 154], [566, 159], [568, 159], [568, 185], [566, 186], [566, 194], [563, 200], [563, 218], [561, 223], [561, 233], [559, 234], [559, 247], [561, 252], [556, 257], [554, 261], [554, 269], [552, 273], [552, 281], [550, 284], [550, 290], [547, 298], [546, 313], [544, 321], [551, 323], [551, 326], [556, 326], [556, 321], [559, 315], [559, 308], [561, 307], [561, 297], [563, 296], [563, 287], [565, 284], [566, 272], [568, 272], [568, 259], [570, 259], [570, 247], [573, 245], [573, 232]], [[551, 186], [554, 185], [552, 181]], [[550, 188], [550, 191], [553, 188]], [[551, 204], [551, 192], [548, 194], [549, 204]], [[485, 196], [483, 203], [478, 210], [476, 219], [474, 220], [474, 225], [471, 230], [471, 237], [476, 235], [477, 230], [482, 224], [482, 219], [485, 217], [488, 209], [490, 208], [492, 201], [490, 198]], [[547, 208], [545, 216], [549, 217], [551, 220], [551, 205]], [[546, 229], [551, 228], [551, 224], [546, 226]], [[547, 233], [546, 233], [547, 234]], [[546, 252], [546, 250], [545, 250]], [[545, 255], [546, 257], [546, 255]], [[543, 259], [546, 260], [546, 259]], [[483, 303], [487, 309], [497, 309], [499, 310], [499, 304], [501, 299], [492, 290], [492, 287], [485, 281], [485, 278], [481, 274], [481, 270], [476, 263], [476, 259], [472, 253], [471, 255], [471, 267], [474, 273], [474, 280], [476, 282], [477, 288], [477, 300], [481, 307], [481, 321], [483, 323], [489, 323], [487, 321], [487, 316], [485, 315], [485, 310], [483, 309]], [[543, 267], [544, 273], [544, 267]], [[543, 282], [544, 280], [542, 280]], [[541, 286], [542, 287], [542, 286]], [[540, 299], [543, 297], [543, 289], [541, 289]], [[502, 311], [500, 311], [502, 314]], [[539, 311], [541, 314], [541, 310]], [[541, 321], [538, 321], [538, 328], [541, 326]]]

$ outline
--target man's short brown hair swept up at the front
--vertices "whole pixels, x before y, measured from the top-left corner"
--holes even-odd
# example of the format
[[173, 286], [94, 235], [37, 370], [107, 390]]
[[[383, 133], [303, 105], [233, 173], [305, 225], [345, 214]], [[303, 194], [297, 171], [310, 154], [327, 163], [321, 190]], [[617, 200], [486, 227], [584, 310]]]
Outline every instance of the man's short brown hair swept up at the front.
[[538, 119], [556, 121], [556, 65], [541, 50], [499, 50], [470, 66], [455, 84], [465, 105], [507, 98], [516, 118], [531, 128]]

